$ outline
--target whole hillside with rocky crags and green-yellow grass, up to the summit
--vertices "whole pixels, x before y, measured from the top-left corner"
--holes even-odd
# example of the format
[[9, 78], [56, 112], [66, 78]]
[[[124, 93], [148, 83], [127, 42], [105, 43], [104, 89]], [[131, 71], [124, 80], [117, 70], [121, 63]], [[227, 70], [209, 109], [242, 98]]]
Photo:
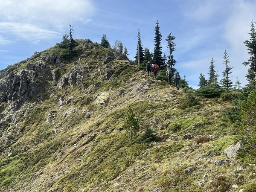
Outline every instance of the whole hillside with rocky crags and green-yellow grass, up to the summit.
[[[0, 71], [0, 191], [255, 191], [255, 158], [243, 145], [224, 153], [239, 142], [230, 101], [181, 108], [189, 90], [77, 42], [72, 58], [56, 44]], [[141, 126], [133, 145], [128, 106]]]

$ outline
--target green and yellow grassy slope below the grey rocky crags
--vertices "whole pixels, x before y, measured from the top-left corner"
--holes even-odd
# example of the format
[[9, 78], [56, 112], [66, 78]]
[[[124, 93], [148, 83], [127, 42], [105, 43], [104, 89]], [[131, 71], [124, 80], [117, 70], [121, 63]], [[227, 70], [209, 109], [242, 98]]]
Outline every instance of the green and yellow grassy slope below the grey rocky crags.
[[[120, 71], [116, 78], [95, 78], [85, 90], [53, 87], [52, 95], [20, 120], [23, 134], [12, 145], [13, 157], [0, 160], [0, 190], [204, 192], [238, 191], [232, 184], [253, 187], [256, 166], [250, 160], [227, 159], [223, 152], [237, 133], [221, 115], [228, 102], [199, 98], [200, 105], [181, 110], [182, 90], [122, 61], [112, 65]], [[96, 82], [99, 88], [90, 93]], [[125, 93], [120, 95], [120, 89]], [[55, 93], [73, 100], [59, 108]], [[99, 105], [102, 101], [107, 104]], [[125, 143], [121, 127], [128, 105], [141, 125], [148, 123], [158, 141]], [[73, 112], [63, 119], [70, 109]], [[52, 111], [55, 119], [47, 123]], [[185, 134], [192, 138], [184, 139]], [[197, 143], [204, 136], [209, 142]], [[226, 163], [215, 166], [217, 159]], [[244, 170], [233, 173], [240, 166]], [[200, 187], [202, 179], [205, 185]]]

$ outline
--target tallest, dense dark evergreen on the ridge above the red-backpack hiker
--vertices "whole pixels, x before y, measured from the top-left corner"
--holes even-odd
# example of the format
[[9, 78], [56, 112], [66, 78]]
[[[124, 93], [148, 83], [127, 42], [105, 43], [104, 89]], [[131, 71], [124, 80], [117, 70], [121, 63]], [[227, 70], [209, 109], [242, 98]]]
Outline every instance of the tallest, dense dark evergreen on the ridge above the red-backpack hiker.
[[155, 37], [154, 37], [155, 44], [154, 44], [153, 62], [158, 64], [159, 66], [163, 63], [161, 38], [162, 38], [162, 35], [160, 33], [160, 27], [157, 20], [156, 27], [155, 27]]

